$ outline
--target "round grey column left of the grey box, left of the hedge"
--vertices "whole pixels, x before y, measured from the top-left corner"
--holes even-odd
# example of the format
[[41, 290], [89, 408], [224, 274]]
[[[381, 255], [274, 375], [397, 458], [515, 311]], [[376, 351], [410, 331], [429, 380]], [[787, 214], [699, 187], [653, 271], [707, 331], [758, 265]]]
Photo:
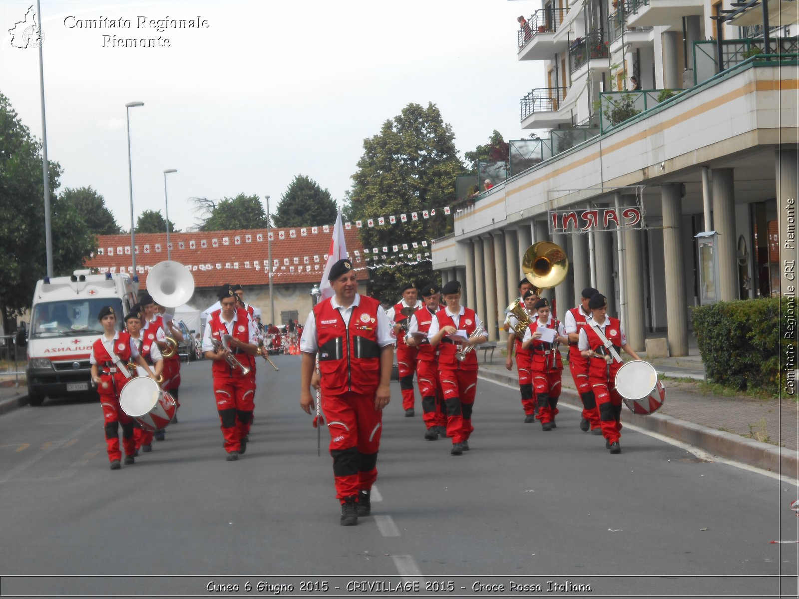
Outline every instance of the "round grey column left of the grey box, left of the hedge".
[[666, 338], [671, 356], [688, 355], [688, 316], [686, 280], [682, 275], [682, 200], [681, 185], [661, 188], [663, 212], [663, 255], [666, 256]]

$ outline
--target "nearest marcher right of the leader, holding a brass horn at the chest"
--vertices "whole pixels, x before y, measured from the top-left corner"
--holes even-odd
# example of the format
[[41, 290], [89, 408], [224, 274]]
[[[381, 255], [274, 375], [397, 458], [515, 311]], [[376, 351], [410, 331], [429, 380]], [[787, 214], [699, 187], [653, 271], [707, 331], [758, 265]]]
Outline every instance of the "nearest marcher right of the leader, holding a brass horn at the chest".
[[[447, 436], [452, 438], [450, 454], [461, 455], [469, 450], [469, 437], [475, 430], [471, 426], [471, 409], [477, 392], [478, 365], [475, 351], [468, 351], [463, 360], [457, 359], [457, 352], [485, 343], [488, 336], [472, 336], [475, 331], [483, 331], [483, 323], [474, 310], [460, 305], [458, 281], [451, 280], [441, 292], [447, 307], [435, 313], [427, 339], [434, 348], [441, 343], [439, 377], [447, 406]], [[449, 335], [465, 339], [455, 341]]]

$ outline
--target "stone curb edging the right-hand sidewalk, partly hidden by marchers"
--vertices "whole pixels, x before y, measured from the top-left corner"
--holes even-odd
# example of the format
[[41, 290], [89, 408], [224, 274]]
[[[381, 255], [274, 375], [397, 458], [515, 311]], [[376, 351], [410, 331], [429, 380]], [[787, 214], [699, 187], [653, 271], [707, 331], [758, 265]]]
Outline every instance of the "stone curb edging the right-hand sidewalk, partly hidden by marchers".
[[[484, 379], [497, 383], [505, 383], [511, 387], [516, 387], [519, 384], [512, 375], [503, 375], [487, 369], [479, 372]], [[570, 406], [582, 407], [577, 391], [571, 389], [563, 389], [560, 401]], [[624, 420], [634, 426], [640, 426], [654, 433], [696, 446], [709, 454], [799, 479], [799, 452], [797, 451], [786, 450], [784, 447], [769, 445], [724, 430], [714, 430], [665, 414], [641, 416], [625, 410]]]

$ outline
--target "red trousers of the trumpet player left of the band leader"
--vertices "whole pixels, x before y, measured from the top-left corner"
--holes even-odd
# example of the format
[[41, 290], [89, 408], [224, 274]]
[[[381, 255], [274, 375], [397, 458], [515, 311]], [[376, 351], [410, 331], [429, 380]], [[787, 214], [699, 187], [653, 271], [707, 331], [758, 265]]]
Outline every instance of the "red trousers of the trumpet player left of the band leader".
[[250, 375], [214, 375], [213, 396], [217, 401], [225, 451], [240, 451], [241, 439], [247, 435], [252, 421], [255, 382]]

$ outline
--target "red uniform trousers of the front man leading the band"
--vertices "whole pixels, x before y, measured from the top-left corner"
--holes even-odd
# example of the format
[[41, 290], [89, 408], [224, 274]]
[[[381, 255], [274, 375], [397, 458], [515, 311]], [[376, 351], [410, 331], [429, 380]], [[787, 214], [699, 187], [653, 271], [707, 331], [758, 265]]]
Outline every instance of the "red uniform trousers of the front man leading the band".
[[383, 412], [375, 409], [375, 394], [352, 391], [322, 394], [322, 412], [330, 432], [330, 455], [336, 498], [358, 496], [377, 478], [377, 451], [383, 431]]

